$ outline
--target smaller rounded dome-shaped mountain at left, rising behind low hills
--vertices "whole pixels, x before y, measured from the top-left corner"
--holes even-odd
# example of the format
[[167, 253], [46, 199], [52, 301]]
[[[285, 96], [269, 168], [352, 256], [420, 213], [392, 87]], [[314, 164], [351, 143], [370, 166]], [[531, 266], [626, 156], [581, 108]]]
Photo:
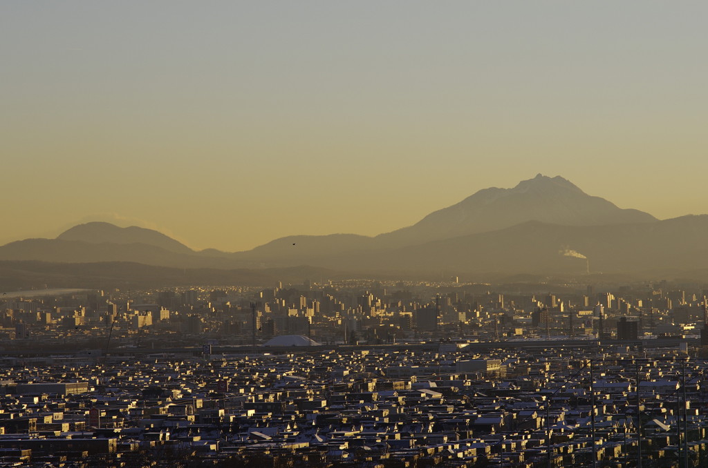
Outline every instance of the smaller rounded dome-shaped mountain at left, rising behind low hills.
[[146, 244], [180, 254], [194, 253], [189, 247], [156, 230], [130, 226], [119, 228], [111, 223], [79, 224], [57, 236], [58, 240], [75, 240], [91, 244]]

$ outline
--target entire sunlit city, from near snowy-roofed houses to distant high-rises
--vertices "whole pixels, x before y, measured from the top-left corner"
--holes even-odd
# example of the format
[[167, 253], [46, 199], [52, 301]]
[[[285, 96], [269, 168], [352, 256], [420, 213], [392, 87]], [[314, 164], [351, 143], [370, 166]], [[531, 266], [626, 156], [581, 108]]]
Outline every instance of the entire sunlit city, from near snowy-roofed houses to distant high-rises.
[[704, 291], [523, 288], [307, 281], [8, 298], [0, 460], [708, 462]]

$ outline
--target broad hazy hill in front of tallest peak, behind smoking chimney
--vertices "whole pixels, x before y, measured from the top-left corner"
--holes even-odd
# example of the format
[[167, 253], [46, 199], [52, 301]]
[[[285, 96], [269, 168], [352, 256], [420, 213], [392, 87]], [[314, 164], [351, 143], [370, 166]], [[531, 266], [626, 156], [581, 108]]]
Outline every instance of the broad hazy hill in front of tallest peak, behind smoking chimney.
[[[699, 270], [708, 266], [708, 216], [655, 223], [559, 226], [528, 221], [488, 233], [435, 240], [376, 254], [333, 259], [350, 269], [450, 271], [451, 274], [616, 274]], [[586, 259], [564, 255], [575, 250]], [[326, 264], [321, 264], [326, 266]]]

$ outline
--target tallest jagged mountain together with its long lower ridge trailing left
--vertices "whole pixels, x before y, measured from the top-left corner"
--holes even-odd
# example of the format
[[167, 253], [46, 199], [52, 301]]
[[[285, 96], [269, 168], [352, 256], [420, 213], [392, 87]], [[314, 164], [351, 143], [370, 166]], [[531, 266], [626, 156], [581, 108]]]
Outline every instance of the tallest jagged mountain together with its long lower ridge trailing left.
[[559, 226], [605, 226], [658, 220], [644, 211], [620, 209], [610, 201], [590, 196], [563, 177], [539, 174], [512, 189], [482, 189], [455, 205], [430, 213], [413, 226], [374, 238], [355, 234], [292, 235], [234, 255], [241, 259], [309, 262], [348, 252], [380, 251], [492, 232], [528, 221]]

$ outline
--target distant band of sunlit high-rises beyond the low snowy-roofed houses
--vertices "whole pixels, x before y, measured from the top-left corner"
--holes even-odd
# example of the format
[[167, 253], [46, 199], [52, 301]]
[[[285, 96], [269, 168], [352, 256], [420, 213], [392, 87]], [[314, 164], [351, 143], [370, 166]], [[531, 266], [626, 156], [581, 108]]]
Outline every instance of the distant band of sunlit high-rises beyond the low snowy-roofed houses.
[[[668, 283], [612, 291], [538, 293], [490, 285], [305, 281], [273, 288], [89, 291], [0, 304], [0, 337], [94, 341], [261, 344], [304, 335], [323, 344], [383, 344], [436, 339], [556, 337], [641, 339], [700, 334], [704, 290]], [[550, 287], [549, 287], [550, 288]], [[511, 290], [512, 292], [508, 291]], [[158, 338], [159, 337], [159, 338]], [[103, 339], [105, 343], [101, 344]]]

